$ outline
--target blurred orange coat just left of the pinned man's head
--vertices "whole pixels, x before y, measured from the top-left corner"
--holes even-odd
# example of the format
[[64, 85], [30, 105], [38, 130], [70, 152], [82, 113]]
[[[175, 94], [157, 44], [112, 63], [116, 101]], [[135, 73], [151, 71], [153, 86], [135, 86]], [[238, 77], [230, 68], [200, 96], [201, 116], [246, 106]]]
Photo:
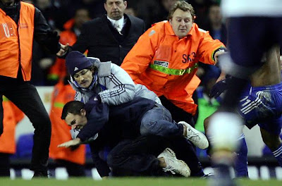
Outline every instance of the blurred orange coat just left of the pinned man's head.
[[63, 106], [68, 101], [73, 101], [75, 90], [71, 85], [63, 85], [60, 81], [55, 87], [52, 95], [50, 120], [52, 125], [51, 143], [49, 156], [51, 159], [62, 159], [83, 165], [85, 163], [85, 145], [82, 144], [78, 149], [71, 151], [70, 148], [58, 148], [58, 144], [67, 142], [71, 139], [70, 129], [65, 120], [61, 120]]

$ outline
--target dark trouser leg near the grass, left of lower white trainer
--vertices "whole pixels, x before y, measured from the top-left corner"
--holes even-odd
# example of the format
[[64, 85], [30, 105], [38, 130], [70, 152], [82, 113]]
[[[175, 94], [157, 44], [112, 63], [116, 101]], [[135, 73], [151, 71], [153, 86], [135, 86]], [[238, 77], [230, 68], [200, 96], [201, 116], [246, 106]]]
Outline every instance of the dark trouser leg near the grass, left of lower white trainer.
[[157, 156], [168, 146], [164, 137], [140, 136], [119, 142], [107, 156], [108, 165], [128, 175], [161, 175]]

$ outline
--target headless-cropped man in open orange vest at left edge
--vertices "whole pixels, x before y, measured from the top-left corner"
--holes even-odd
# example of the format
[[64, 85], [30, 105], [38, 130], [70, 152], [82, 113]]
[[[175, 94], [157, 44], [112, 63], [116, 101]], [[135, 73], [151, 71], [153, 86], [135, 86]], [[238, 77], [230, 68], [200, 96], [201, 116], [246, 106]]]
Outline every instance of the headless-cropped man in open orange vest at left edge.
[[2, 95], [25, 113], [35, 128], [30, 170], [47, 178], [51, 122], [30, 84], [32, 42], [35, 39], [51, 54], [62, 56], [68, 46], [59, 43], [44, 16], [32, 4], [0, 0], [0, 135], [3, 133]]

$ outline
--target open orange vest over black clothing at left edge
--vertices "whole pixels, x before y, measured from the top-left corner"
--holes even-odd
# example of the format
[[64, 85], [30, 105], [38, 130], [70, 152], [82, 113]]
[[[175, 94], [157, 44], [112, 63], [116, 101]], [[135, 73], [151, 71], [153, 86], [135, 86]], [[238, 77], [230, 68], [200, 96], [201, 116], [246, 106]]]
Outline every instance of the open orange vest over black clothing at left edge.
[[21, 66], [23, 80], [29, 81], [35, 7], [20, 2], [18, 24], [0, 8], [0, 75], [16, 78]]

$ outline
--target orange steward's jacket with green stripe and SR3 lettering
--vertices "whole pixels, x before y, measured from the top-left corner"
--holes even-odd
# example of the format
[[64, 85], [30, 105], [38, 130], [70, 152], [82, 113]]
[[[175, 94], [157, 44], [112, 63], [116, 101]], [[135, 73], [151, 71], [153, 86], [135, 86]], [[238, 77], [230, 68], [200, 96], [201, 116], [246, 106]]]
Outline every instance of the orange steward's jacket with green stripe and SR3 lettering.
[[192, 94], [200, 84], [198, 63], [214, 64], [214, 52], [225, 47], [209, 32], [193, 23], [186, 37], [179, 39], [168, 21], [156, 23], [130, 50], [121, 68], [135, 83], [145, 85], [158, 96], [195, 114], [197, 104]]

